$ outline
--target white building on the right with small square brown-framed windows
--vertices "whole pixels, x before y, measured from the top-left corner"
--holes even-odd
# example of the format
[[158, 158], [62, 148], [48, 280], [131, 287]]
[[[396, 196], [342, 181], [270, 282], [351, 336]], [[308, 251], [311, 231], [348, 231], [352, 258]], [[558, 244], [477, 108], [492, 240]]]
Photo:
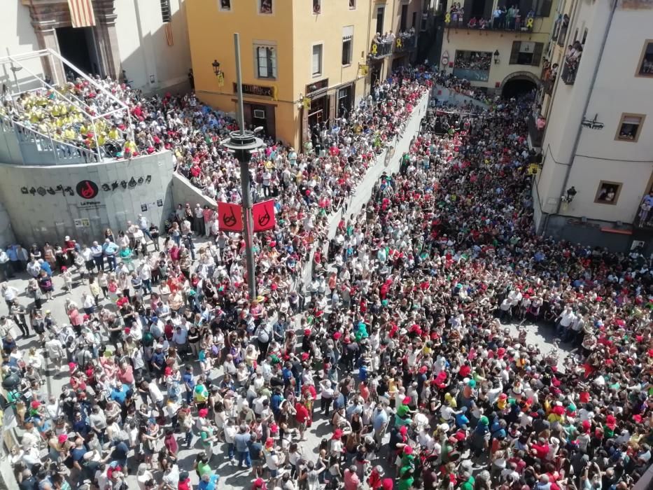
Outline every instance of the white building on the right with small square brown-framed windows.
[[652, 7], [560, 0], [533, 185], [545, 235], [622, 250], [653, 245], [653, 214], [641, 208], [653, 190]]

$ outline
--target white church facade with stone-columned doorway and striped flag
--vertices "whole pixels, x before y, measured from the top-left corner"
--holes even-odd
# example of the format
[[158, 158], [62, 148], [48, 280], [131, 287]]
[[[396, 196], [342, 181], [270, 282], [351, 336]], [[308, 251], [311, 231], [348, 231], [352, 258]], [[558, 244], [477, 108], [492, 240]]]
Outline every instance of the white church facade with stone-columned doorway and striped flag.
[[[50, 48], [85, 73], [126, 80], [143, 92], [188, 86], [190, 50], [184, 0], [87, 0], [91, 25], [73, 27], [67, 0], [17, 0], [3, 4], [0, 57]], [[90, 13], [87, 13], [90, 15]], [[5, 69], [0, 82], [29, 90], [31, 71], [61, 83], [63, 64], [33, 60]], [[20, 86], [24, 80], [28, 85]], [[13, 89], [12, 91], [15, 91]]]

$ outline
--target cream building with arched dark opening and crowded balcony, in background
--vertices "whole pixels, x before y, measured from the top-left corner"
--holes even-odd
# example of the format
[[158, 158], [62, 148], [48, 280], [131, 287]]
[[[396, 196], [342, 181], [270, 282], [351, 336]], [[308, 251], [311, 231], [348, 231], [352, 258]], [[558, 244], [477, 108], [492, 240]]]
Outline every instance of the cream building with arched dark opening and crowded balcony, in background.
[[[488, 93], [539, 87], [556, 18], [552, 0], [449, 0], [440, 69]], [[512, 85], [512, 86], [511, 86]]]

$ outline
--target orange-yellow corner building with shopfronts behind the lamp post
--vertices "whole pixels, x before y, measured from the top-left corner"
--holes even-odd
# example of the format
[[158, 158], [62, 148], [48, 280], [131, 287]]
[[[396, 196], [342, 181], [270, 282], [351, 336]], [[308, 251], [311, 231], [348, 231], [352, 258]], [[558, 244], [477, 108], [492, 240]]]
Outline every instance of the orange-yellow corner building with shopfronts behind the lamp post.
[[419, 18], [420, 3], [189, 1], [186, 14], [197, 97], [227, 113], [236, 111], [233, 34], [238, 32], [245, 125], [262, 126], [269, 136], [302, 148], [311, 128], [349, 113], [370, 93], [370, 83], [387, 76], [393, 60], [407, 59], [413, 52], [395, 42], [388, 54], [372, 56], [372, 41], [377, 22], [384, 32], [409, 25]]

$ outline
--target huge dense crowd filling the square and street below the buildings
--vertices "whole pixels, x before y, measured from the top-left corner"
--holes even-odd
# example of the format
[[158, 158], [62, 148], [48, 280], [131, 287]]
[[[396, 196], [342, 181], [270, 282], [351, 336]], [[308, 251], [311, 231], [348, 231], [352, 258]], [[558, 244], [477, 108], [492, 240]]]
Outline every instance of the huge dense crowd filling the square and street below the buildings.
[[[255, 192], [275, 197], [278, 225], [255, 239], [258, 297], [241, 237], [195, 243], [211, 214], [190, 205], [165, 239], [139, 216], [103, 244], [67, 237], [60, 264], [30, 249], [29, 274], [72, 290], [57, 322], [36, 311], [52, 280], [35, 276], [29, 318], [70, 378], [60, 394], [15, 400], [21, 489], [122, 490], [135, 470], [140, 489], [212, 490], [224, 484], [216, 455], [252, 489], [633, 486], [653, 442], [650, 259], [535, 235], [532, 96], [430, 111], [395, 155], [398, 174], [347, 212], [377, 141], [401, 132], [437, 78], [424, 75], [395, 74], [302, 154], [267, 147]], [[201, 129], [183, 135], [177, 165], [237, 201], [210, 114], [194, 114]], [[331, 211], [343, 218], [317, 246]], [[31, 333], [17, 290], [2, 293], [3, 375], [37, 393], [38, 356], [13, 338], [19, 325]], [[557, 347], [540, 352], [525, 323], [575, 350], [564, 362]], [[178, 458], [181, 444], [194, 462]]]

